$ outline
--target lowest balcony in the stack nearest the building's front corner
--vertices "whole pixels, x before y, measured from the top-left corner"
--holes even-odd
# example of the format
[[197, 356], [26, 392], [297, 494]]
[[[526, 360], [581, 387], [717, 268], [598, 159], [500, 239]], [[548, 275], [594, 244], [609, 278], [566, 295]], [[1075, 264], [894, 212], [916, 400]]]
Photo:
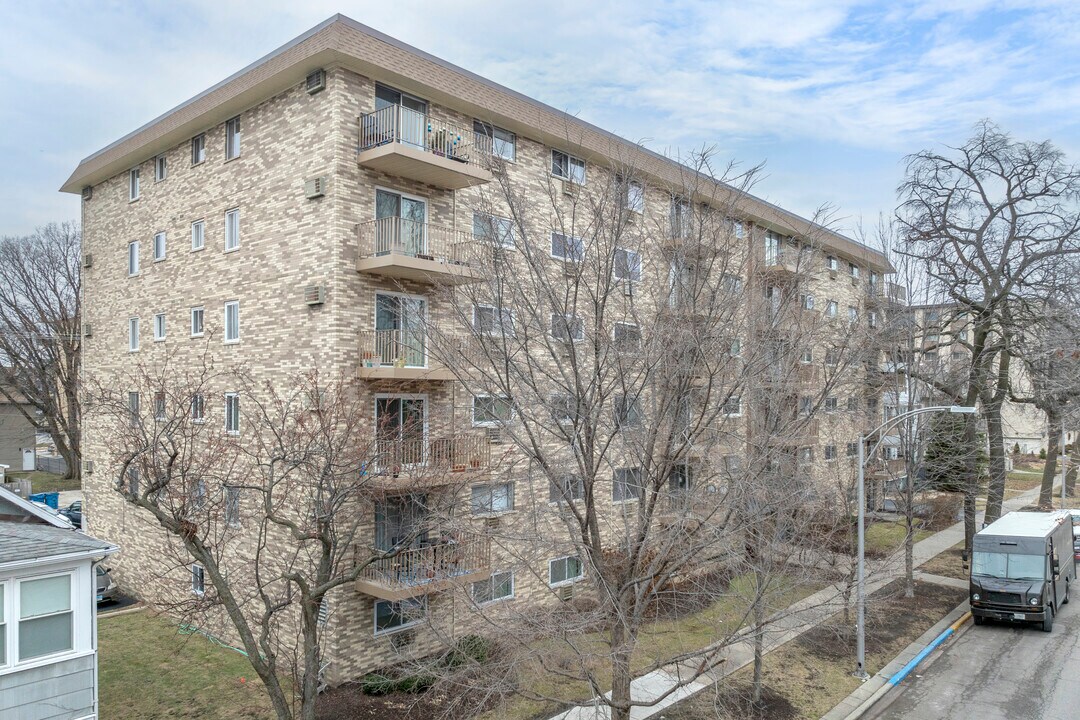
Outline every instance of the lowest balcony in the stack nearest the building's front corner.
[[481, 580], [491, 573], [490, 568], [491, 541], [457, 532], [376, 560], [361, 571], [355, 589], [383, 600], [403, 600]]

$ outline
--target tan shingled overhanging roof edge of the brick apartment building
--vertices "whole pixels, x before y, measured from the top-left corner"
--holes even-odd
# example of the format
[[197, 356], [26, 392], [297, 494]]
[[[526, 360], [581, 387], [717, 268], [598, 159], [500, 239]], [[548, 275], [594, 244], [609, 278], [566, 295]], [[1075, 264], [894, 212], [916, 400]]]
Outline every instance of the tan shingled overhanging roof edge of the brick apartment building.
[[[79, 192], [119, 175], [208, 127], [301, 82], [312, 70], [341, 65], [417, 92], [435, 103], [502, 125], [526, 137], [627, 162], [640, 172], [681, 185], [688, 167], [613, 133], [413, 47], [343, 15], [334, 15], [213, 87], [85, 158], [60, 188]], [[703, 177], [703, 176], [699, 176]], [[791, 234], [821, 233], [834, 249], [892, 271], [885, 255], [772, 203], [719, 184], [739, 212]]]

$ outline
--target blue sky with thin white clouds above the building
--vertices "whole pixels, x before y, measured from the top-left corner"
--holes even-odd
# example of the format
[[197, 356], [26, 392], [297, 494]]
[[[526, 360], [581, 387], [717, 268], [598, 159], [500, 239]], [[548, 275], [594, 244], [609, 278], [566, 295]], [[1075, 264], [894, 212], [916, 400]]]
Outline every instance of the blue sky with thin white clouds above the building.
[[764, 163], [754, 194], [849, 234], [981, 119], [1080, 155], [1069, 1], [0, 0], [0, 235], [78, 219], [82, 158], [338, 12], [659, 152]]

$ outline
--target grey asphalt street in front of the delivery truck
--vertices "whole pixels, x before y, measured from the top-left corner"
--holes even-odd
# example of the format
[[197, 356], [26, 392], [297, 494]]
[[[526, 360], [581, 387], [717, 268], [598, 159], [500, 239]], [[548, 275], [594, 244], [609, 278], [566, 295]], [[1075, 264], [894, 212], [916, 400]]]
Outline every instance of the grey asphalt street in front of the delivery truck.
[[[1077, 594], [1074, 594], [1074, 598]], [[1053, 633], [986, 623], [946, 642], [866, 717], [876, 720], [1072, 720], [1080, 718], [1080, 601]], [[916, 675], [921, 677], [916, 677]]]

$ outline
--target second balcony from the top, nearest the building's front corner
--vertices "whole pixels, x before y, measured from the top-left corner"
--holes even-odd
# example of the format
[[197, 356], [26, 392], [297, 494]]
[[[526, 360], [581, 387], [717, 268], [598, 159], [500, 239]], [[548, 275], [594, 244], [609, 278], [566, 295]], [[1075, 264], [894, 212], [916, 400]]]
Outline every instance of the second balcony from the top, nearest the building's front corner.
[[447, 285], [472, 283], [483, 276], [468, 260], [474, 242], [471, 232], [399, 217], [362, 222], [356, 231], [357, 272]]

